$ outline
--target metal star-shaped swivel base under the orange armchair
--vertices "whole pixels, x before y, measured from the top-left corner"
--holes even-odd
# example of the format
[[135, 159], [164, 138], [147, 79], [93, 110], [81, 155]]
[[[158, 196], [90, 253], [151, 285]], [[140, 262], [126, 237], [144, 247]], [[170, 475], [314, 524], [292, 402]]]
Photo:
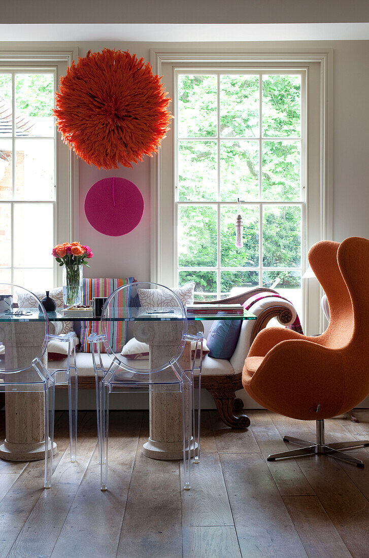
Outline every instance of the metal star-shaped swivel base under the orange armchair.
[[329, 455], [334, 457], [334, 459], [339, 459], [341, 461], [347, 461], [352, 463], [357, 467], [363, 467], [364, 463], [361, 459], [356, 459], [344, 453], [344, 449], [361, 448], [369, 446], [369, 440], [354, 440], [352, 442], [333, 442], [333, 444], [325, 444], [324, 441], [324, 420], [317, 420], [317, 441], [310, 442], [308, 440], [300, 440], [299, 438], [293, 438], [291, 436], [285, 436], [283, 439], [285, 442], [290, 442], [290, 444], [296, 444], [298, 446], [303, 446], [303, 448], [298, 448], [291, 451], [281, 451], [281, 453], [271, 454], [268, 456], [267, 461], [275, 461], [276, 459], [284, 458], [296, 458], [302, 457], [303, 455]]

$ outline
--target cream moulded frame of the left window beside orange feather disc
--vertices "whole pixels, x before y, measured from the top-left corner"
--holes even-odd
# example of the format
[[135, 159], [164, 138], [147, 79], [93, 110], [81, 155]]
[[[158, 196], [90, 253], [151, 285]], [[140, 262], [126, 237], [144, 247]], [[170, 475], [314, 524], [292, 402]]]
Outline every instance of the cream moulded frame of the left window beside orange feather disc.
[[[55, 89], [61, 76], [73, 60], [78, 59], [78, 49], [4, 50], [0, 47], [0, 71], [45, 71], [54, 74]], [[14, 203], [13, 200], [10, 200]], [[41, 200], [42, 201], [42, 200]], [[23, 202], [20, 202], [23, 203]], [[37, 203], [37, 202], [36, 202]], [[41, 202], [40, 202], [41, 203]], [[55, 201], [53, 245], [74, 240], [79, 231], [78, 161], [55, 130]], [[54, 286], [62, 282], [61, 268], [54, 261]]]

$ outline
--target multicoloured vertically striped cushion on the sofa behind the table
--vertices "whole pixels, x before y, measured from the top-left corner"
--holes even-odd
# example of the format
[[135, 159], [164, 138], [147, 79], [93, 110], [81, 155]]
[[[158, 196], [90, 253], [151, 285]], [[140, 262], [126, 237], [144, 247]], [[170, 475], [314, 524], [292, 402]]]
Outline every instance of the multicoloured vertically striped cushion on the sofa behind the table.
[[[126, 277], [124, 279], [84, 279], [83, 280], [83, 292], [82, 292], [82, 304], [88, 305], [89, 301], [93, 299], [94, 296], [107, 297], [112, 294], [117, 288], [123, 285], [129, 285], [133, 283], [135, 279], [133, 277]], [[124, 289], [124, 295], [126, 300], [122, 300], [122, 304], [130, 304], [131, 297], [131, 287]], [[121, 301], [119, 300], [119, 303]], [[92, 353], [92, 345], [87, 342], [88, 336], [91, 333], [100, 333], [100, 322], [99, 321], [82, 321], [81, 322], [81, 332], [80, 332], [80, 350], [83, 353]], [[127, 335], [127, 323], [124, 321], [112, 321], [106, 326], [106, 333], [108, 338], [108, 343], [111, 346], [114, 353], [121, 352], [123, 345], [126, 343]], [[105, 352], [103, 346], [100, 345], [100, 350]]]

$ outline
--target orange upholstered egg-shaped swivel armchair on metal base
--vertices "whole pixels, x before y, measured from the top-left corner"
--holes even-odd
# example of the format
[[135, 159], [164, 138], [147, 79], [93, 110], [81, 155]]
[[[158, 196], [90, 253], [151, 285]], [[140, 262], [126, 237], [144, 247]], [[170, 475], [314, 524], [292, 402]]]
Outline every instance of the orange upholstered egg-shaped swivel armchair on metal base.
[[245, 360], [243, 387], [271, 411], [317, 421], [316, 444], [285, 437], [304, 447], [270, 455], [269, 461], [318, 453], [363, 466], [341, 450], [369, 441], [327, 446], [324, 419], [351, 410], [369, 394], [369, 240], [324, 240], [314, 244], [308, 259], [328, 298], [327, 330], [318, 337], [284, 328], [261, 331]]

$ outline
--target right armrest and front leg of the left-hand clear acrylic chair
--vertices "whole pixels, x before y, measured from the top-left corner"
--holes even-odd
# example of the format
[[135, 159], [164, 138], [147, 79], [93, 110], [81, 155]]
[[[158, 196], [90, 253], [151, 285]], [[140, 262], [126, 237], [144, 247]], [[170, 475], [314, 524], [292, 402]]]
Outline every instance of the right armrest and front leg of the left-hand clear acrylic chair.
[[69, 409], [69, 449], [70, 461], [74, 463], [77, 459], [77, 417], [78, 417], [78, 371], [76, 366], [76, 335], [75, 331], [63, 335], [49, 334], [47, 341], [58, 341], [68, 343], [68, 354], [66, 366], [63, 369], [52, 369], [50, 374], [55, 380], [56, 386], [68, 386], [68, 409]]

